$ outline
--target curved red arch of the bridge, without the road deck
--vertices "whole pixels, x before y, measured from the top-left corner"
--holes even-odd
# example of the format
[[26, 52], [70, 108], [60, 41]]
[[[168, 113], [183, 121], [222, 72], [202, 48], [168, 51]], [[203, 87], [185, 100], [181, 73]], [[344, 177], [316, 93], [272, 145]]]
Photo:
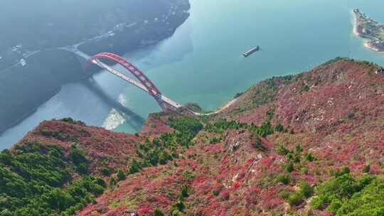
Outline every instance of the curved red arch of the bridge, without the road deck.
[[145, 87], [149, 95], [154, 97], [154, 99], [159, 104], [161, 109], [163, 109], [163, 111], [176, 111], [176, 109], [178, 108], [170, 104], [169, 102], [164, 101], [163, 95], [161, 94], [160, 90], [156, 87], [156, 85], [154, 85], [154, 82], [149, 80], [149, 78], [146, 77], [142, 70], [139, 70], [139, 68], [134, 66], [128, 60], [114, 53], [99, 53], [97, 55], [92, 56], [89, 61], [90, 63], [97, 63], [97, 61], [100, 61], [101, 59], [112, 60], [115, 63], [122, 65], [125, 69], [131, 72], [132, 75], [134, 75], [134, 77], [136, 77], [137, 80]]

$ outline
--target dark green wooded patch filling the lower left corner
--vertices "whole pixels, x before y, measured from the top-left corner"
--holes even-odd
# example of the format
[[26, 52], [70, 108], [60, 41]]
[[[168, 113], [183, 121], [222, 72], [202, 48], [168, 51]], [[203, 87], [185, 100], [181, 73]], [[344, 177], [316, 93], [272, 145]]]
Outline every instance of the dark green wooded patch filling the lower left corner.
[[71, 173], [87, 163], [83, 153], [73, 148], [70, 151], [76, 153], [70, 156], [60, 146], [37, 143], [17, 145], [12, 153], [2, 151], [0, 215], [73, 215], [102, 194], [101, 178], [81, 175], [72, 180]]

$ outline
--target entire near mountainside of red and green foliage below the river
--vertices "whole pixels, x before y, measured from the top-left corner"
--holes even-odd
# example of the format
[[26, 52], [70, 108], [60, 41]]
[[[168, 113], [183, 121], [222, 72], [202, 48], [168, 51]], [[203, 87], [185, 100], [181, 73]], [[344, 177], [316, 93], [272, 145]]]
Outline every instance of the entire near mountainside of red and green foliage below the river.
[[[71, 207], [82, 216], [130, 210], [140, 216], [383, 215], [384, 74], [378, 68], [338, 58], [262, 81], [213, 117], [151, 114], [135, 135], [72, 119], [44, 121], [1, 153], [0, 185], [21, 183], [4, 178], [14, 175], [50, 184], [34, 199], [55, 199], [29, 205], [63, 215]], [[60, 148], [55, 155], [69, 173], [60, 184], [23, 175], [23, 148], [34, 145]], [[41, 148], [47, 147], [33, 149], [50, 152]], [[44, 173], [33, 167], [28, 171]], [[76, 180], [103, 188], [85, 187], [90, 199], [81, 200], [71, 190]], [[49, 192], [55, 188], [68, 202]], [[14, 200], [0, 202], [0, 215], [27, 215], [15, 207], [25, 205], [20, 198], [28, 193], [0, 190], [1, 200]]]

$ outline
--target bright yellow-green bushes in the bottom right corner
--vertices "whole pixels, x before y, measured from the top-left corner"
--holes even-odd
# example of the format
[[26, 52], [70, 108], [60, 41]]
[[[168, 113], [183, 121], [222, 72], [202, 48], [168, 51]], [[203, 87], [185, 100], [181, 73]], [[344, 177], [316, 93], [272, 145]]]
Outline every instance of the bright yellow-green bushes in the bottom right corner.
[[316, 187], [311, 201], [315, 209], [326, 209], [334, 215], [384, 215], [384, 179], [373, 175], [354, 178], [348, 171]]

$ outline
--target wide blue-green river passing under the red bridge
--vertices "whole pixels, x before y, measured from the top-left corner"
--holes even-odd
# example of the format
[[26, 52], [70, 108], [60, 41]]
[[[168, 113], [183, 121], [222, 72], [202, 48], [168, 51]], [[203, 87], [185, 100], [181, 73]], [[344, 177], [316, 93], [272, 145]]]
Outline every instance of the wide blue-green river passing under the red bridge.
[[[306, 71], [337, 56], [384, 65], [383, 54], [368, 50], [353, 35], [355, 8], [384, 22], [382, 0], [191, 0], [191, 16], [174, 36], [124, 57], [164, 95], [215, 109], [260, 80]], [[262, 51], [241, 56], [255, 45]], [[100, 72], [64, 85], [30, 117], [1, 134], [0, 149], [46, 119], [73, 117], [133, 133], [149, 113], [159, 110], [146, 93]]]

